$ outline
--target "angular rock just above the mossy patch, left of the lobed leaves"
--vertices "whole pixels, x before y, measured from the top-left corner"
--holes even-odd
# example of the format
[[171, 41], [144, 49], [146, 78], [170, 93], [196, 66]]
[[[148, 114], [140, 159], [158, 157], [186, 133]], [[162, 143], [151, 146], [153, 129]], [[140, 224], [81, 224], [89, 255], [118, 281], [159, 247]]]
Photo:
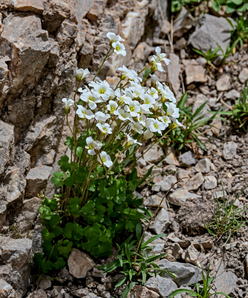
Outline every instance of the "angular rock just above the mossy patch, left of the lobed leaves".
[[37, 217], [40, 209], [40, 199], [37, 197], [24, 200], [18, 217], [18, 227], [21, 232], [29, 231]]

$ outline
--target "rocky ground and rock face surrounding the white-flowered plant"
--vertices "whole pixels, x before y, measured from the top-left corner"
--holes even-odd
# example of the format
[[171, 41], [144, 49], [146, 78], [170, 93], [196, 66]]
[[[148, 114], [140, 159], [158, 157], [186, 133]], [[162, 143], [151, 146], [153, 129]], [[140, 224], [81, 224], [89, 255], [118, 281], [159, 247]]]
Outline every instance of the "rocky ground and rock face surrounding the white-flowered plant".
[[[115, 289], [114, 284], [121, 274], [103, 274], [76, 249], [59, 279], [44, 276], [37, 287], [29, 276], [32, 255], [41, 249], [36, 195], [42, 188], [48, 197], [53, 194], [50, 177], [69, 134], [63, 125], [61, 98], [71, 94], [77, 67], [97, 71], [110, 31], [126, 39], [127, 56], [110, 60], [100, 72], [102, 79], [114, 84], [117, 67], [125, 64], [138, 70], [160, 46], [171, 63], [166, 75], [156, 75], [169, 84], [177, 99], [189, 90], [187, 103], [193, 110], [206, 100], [206, 115], [223, 105], [227, 110], [237, 102], [248, 78], [247, 44], [237, 48], [227, 59], [230, 63], [218, 71], [192, 51], [214, 49], [217, 44], [225, 49], [229, 42], [228, 22], [211, 11], [202, 15], [207, 12], [204, 6], [191, 13], [182, 8], [170, 23], [167, 2], [162, 0], [0, 0], [0, 4], [0, 297], [118, 298], [123, 288]], [[167, 298], [170, 291], [200, 281], [200, 263], [206, 269], [208, 261], [215, 277], [213, 290], [248, 297], [247, 226], [233, 232], [222, 246], [225, 236], [216, 241], [201, 218], [202, 214], [205, 222], [212, 220], [215, 197], [223, 198], [222, 185], [230, 200], [248, 185], [248, 134], [220, 119], [214, 126], [201, 137], [206, 152], [197, 144], [181, 151], [154, 146], [138, 161], [140, 176], [154, 165], [150, 183], [135, 193], [151, 211], [177, 179], [189, 179], [170, 190], [149, 229], [149, 235], [167, 234], [154, 241], [154, 252], [168, 252], [160, 266], [179, 270], [179, 279], [152, 277], [146, 288], [135, 286], [130, 298]], [[140, 153], [145, 150], [142, 147]], [[245, 189], [235, 204], [244, 207], [247, 200]], [[246, 212], [244, 218], [248, 220]], [[87, 270], [78, 268], [80, 263]]]

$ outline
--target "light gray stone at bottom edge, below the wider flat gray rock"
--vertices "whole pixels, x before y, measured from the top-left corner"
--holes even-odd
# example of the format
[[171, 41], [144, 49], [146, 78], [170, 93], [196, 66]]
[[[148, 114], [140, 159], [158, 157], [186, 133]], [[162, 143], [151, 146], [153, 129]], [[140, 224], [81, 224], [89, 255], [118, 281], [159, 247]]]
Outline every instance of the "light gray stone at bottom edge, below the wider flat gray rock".
[[[150, 277], [146, 282], [146, 287], [149, 290], [158, 293], [162, 298], [168, 298], [173, 291], [177, 290], [177, 285], [173, 280], [170, 278], [161, 277], [160, 275], [157, 275], [156, 277]], [[181, 295], [177, 296], [176, 298], [179, 297], [181, 297]]]

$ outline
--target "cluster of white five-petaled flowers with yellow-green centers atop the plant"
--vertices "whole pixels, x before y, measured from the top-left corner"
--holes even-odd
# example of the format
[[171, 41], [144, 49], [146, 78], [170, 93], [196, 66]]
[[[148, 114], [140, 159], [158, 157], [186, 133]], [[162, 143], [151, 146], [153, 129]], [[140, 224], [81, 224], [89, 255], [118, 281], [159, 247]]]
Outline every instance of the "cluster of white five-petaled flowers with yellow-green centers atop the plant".
[[[108, 32], [107, 37], [113, 52], [126, 55], [125, 47], [120, 43], [124, 40], [119, 35]], [[164, 71], [162, 61], [168, 65], [170, 60], [165, 58], [165, 53], [161, 53], [160, 47], [156, 47], [156, 54], [148, 66], [151, 71]], [[85, 121], [90, 132], [85, 149], [90, 160], [95, 159], [108, 168], [116, 162], [108, 154], [111, 154], [108, 145], [113, 145], [118, 140], [118, 144], [123, 146], [123, 153], [134, 144], [141, 146], [142, 142], [155, 137], [156, 133], [162, 135], [170, 123], [173, 127], [183, 126], [177, 120], [179, 108], [176, 107], [173, 92], [156, 75], [150, 74], [152, 82], [151, 88], [148, 88], [134, 70], [124, 65], [118, 70], [121, 72], [120, 81], [115, 89], [106, 80], [89, 81], [88, 86], [78, 89], [81, 95], [77, 104], [76, 121]], [[88, 75], [88, 69], [77, 71], [77, 79], [80, 81]], [[74, 104], [71, 99], [63, 99], [63, 102], [67, 111]]]

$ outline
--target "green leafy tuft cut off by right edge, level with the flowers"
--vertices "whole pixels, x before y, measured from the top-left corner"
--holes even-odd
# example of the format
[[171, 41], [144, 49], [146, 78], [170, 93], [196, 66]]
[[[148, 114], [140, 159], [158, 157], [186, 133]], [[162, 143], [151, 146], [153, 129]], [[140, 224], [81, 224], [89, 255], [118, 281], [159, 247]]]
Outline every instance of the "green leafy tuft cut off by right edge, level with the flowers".
[[230, 116], [230, 123], [238, 121], [239, 128], [247, 132], [246, 122], [248, 120], [248, 97], [247, 97], [247, 81], [244, 84], [244, 91], [242, 97], [238, 98], [237, 104], [231, 111], [221, 111], [220, 114]]

